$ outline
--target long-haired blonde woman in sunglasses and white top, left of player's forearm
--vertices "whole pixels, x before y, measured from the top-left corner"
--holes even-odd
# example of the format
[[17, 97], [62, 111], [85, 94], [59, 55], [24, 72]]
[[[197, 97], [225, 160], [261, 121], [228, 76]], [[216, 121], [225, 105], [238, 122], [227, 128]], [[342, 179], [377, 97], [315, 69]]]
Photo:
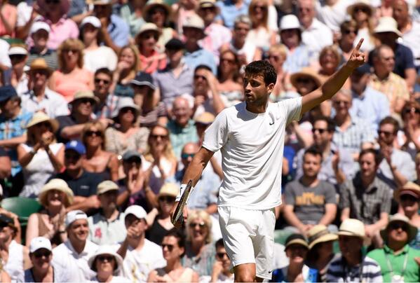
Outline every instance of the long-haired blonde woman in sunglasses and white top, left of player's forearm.
[[146, 162], [142, 166], [150, 178], [150, 188], [158, 194], [165, 180], [175, 175], [177, 167], [177, 158], [170, 144], [168, 128], [163, 125], [152, 127], [147, 145], [147, 152], [144, 153]]

